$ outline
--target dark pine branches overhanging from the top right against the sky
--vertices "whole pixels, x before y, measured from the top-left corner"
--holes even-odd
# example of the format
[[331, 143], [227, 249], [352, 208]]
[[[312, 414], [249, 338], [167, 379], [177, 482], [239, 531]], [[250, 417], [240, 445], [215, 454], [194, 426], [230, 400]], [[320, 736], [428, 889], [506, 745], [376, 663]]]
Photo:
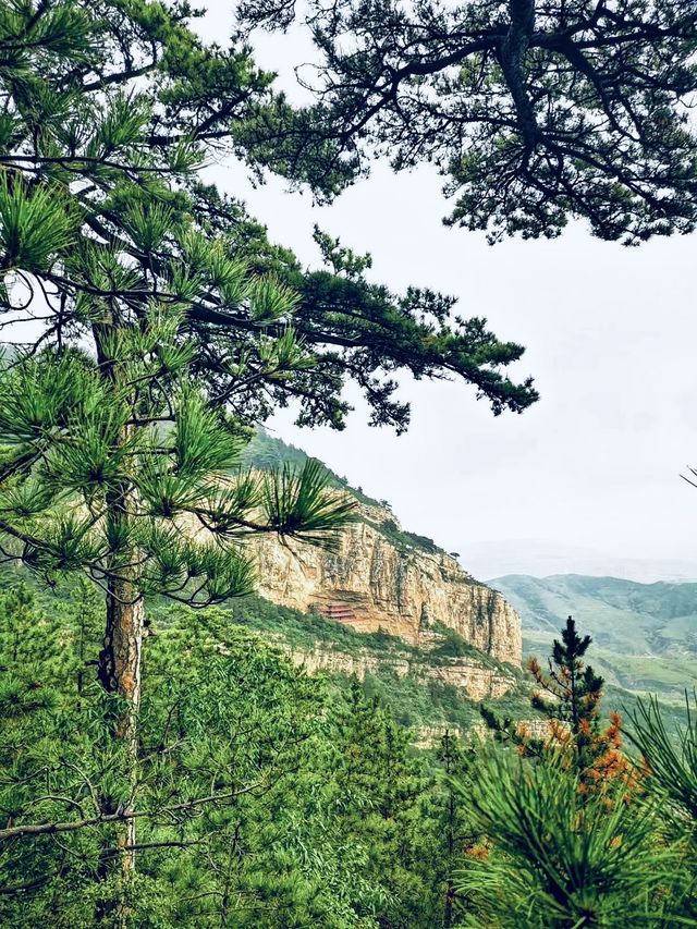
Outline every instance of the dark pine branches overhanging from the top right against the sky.
[[[697, 220], [695, 11], [680, 0], [246, 0], [247, 27], [304, 22], [315, 103], [247, 129], [332, 196], [376, 156], [433, 164], [447, 219], [504, 235], [638, 243]], [[333, 158], [328, 159], [331, 151]]]

